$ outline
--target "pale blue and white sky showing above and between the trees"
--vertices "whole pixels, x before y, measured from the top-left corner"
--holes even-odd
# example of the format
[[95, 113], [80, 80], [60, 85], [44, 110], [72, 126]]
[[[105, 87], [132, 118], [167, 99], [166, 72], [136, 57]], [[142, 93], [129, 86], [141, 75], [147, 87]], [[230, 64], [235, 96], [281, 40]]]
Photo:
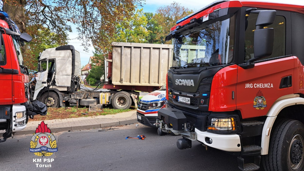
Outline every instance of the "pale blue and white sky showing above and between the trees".
[[[280, 2], [289, 4], [304, 5], [304, 0], [254, 0], [254, 1], [267, 1], [267, 2]], [[170, 5], [173, 2], [178, 2], [181, 6], [193, 9], [194, 11], [203, 8], [204, 6], [214, 2], [214, 0], [146, 0], [143, 5], [143, 12], [155, 12], [158, 7]], [[73, 26], [72, 26], [73, 27]], [[70, 45], [73, 45], [77, 51], [80, 52], [81, 65], [84, 66], [89, 62], [90, 56], [93, 56], [94, 48], [91, 46], [88, 52], [84, 51], [84, 47], [81, 46], [81, 41], [76, 39], [77, 30], [73, 28], [73, 32], [69, 33]]]

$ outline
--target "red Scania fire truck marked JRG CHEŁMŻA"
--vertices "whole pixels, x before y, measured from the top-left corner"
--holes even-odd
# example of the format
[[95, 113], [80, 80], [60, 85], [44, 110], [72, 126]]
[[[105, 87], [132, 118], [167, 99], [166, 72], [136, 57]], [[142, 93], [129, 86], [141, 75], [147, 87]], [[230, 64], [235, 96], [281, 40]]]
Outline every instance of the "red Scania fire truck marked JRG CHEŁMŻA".
[[236, 155], [241, 170], [304, 169], [304, 6], [216, 1], [171, 39], [159, 134]]

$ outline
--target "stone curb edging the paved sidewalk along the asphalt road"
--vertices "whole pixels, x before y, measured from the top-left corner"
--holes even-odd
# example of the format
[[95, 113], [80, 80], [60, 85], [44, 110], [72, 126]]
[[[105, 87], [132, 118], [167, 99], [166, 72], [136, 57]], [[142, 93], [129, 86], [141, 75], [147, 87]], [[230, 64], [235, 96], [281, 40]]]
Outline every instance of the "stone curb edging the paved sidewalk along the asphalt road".
[[[114, 122], [107, 122], [107, 123], [101, 123], [101, 124], [92, 124], [92, 125], [81, 125], [81, 126], [72, 126], [72, 127], [71, 126], [68, 126], [68, 127], [55, 127], [55, 128], [50, 127], [50, 130], [52, 132], [78, 131], [78, 130], [85, 130], [85, 129], [115, 127], [115, 126], [129, 125], [129, 124], [135, 124], [135, 123], [137, 123], [136, 119], [130, 119], [130, 120], [114, 121]], [[35, 131], [36, 131], [36, 128], [35, 129], [31, 129], [31, 130], [22, 130], [22, 131], [16, 132], [15, 135], [34, 134]]]

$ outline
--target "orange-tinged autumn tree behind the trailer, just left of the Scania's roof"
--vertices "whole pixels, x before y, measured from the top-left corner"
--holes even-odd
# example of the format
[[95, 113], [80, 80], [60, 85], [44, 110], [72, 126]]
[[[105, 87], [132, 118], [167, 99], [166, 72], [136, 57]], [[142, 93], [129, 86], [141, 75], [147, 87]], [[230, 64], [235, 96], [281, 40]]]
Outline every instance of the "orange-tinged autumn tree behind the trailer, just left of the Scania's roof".
[[176, 25], [176, 21], [192, 12], [192, 10], [181, 6], [177, 2], [157, 8], [153, 18], [158, 23], [161, 31], [157, 32], [156, 39], [160, 40], [162, 44], [171, 44], [171, 41], [165, 42], [165, 37], [170, 33], [171, 27]]

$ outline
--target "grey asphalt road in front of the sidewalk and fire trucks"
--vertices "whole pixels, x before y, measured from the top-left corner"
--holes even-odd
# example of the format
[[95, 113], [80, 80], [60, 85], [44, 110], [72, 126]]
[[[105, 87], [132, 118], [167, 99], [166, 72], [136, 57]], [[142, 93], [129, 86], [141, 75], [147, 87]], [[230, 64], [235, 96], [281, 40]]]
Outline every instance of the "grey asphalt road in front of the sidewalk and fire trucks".
[[[206, 151], [197, 141], [192, 143], [192, 148], [179, 150], [176, 140], [180, 136], [158, 136], [156, 129], [141, 124], [113, 128], [54, 133], [58, 152], [43, 158], [29, 152], [32, 134], [9, 138], [0, 144], [0, 170], [239, 170], [237, 157], [214, 148]], [[146, 139], [125, 139], [137, 135], [145, 135]], [[42, 162], [33, 159], [42, 159]], [[54, 161], [43, 162], [43, 159]], [[50, 164], [51, 167], [40, 168], [40, 164]]]

